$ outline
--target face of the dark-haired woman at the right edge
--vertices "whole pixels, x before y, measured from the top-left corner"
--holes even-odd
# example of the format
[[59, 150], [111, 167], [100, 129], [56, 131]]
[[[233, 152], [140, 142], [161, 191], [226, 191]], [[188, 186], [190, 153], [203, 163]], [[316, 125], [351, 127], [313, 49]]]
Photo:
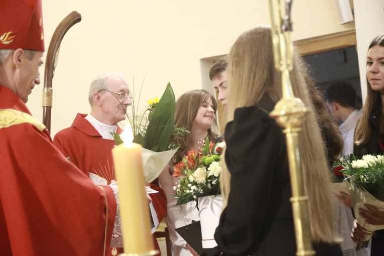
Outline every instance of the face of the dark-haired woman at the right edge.
[[384, 94], [384, 47], [375, 45], [368, 50], [366, 78], [372, 90]]

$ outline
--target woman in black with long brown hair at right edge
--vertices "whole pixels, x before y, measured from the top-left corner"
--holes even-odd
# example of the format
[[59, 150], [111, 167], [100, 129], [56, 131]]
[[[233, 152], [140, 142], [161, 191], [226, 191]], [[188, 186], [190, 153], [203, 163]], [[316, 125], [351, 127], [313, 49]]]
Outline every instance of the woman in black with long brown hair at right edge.
[[[366, 154], [384, 153], [384, 35], [372, 40], [366, 57], [367, 95], [360, 120], [356, 124], [353, 154], [361, 158]], [[384, 189], [384, 188], [383, 188]], [[373, 225], [384, 224], [384, 212], [368, 205], [361, 212], [366, 222]], [[365, 240], [365, 230], [355, 220], [352, 239], [355, 242]], [[371, 256], [384, 255], [384, 230], [373, 233]]]

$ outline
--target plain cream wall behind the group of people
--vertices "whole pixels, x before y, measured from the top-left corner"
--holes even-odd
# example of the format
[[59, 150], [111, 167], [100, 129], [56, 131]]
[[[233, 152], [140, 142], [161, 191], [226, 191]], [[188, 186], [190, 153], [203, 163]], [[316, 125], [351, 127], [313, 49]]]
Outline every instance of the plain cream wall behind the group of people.
[[[147, 98], [161, 96], [169, 81], [176, 97], [194, 88], [213, 92], [206, 77], [211, 57], [226, 54], [242, 32], [270, 25], [268, 0], [43, 0], [46, 49], [56, 26], [74, 10], [82, 21], [61, 45], [52, 135], [70, 126], [77, 112], [89, 112], [89, 84], [101, 73], [121, 72], [130, 86], [135, 77], [136, 96], [146, 76], [142, 107]], [[293, 40], [354, 28], [339, 24], [334, 0], [294, 1], [292, 20]], [[27, 104], [39, 120], [42, 87]]]

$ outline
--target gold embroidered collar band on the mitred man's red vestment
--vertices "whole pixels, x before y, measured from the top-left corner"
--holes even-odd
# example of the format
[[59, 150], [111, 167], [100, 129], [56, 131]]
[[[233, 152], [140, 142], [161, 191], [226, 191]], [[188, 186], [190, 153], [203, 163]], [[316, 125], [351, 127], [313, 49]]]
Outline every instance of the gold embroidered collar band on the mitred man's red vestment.
[[0, 129], [26, 122], [35, 125], [40, 131], [45, 129], [45, 125], [30, 114], [14, 109], [0, 109]]

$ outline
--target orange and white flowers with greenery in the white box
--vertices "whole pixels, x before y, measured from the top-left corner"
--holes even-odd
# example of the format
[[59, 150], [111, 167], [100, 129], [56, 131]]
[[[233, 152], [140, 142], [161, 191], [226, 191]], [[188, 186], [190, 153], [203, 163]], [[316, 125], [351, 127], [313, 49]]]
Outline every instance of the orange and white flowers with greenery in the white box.
[[177, 205], [195, 201], [198, 198], [220, 194], [221, 154], [225, 142], [213, 144], [207, 138], [201, 150], [189, 150], [188, 154], [174, 167], [173, 177], [182, 176], [176, 190]]

